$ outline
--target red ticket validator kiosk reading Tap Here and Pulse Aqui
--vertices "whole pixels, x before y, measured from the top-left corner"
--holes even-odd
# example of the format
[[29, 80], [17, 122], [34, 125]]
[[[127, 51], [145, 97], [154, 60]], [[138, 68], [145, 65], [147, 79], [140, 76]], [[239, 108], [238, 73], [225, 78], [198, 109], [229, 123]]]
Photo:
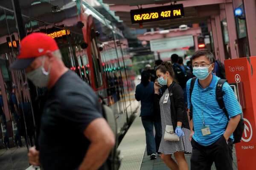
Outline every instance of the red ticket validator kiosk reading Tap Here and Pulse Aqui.
[[244, 134], [236, 145], [239, 170], [256, 169], [256, 57], [224, 61], [226, 78], [244, 114]]

